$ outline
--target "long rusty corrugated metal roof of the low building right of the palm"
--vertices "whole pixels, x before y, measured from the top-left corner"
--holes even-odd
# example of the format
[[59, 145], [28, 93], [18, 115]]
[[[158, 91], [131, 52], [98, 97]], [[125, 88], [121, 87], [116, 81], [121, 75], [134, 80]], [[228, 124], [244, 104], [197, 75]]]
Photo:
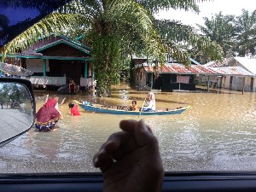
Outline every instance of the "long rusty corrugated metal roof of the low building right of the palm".
[[[148, 73], [154, 72], [154, 67], [144, 66]], [[159, 68], [161, 73], [177, 73], [177, 74], [208, 74], [208, 75], [241, 75], [254, 76], [242, 67], [206, 67], [199, 65], [191, 65], [186, 67], [178, 63], [166, 63]]]

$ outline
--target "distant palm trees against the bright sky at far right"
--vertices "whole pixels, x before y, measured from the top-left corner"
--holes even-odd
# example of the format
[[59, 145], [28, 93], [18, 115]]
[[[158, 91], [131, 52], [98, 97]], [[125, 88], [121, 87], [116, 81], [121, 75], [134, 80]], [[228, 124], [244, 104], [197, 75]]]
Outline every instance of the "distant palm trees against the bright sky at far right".
[[[204, 18], [204, 20], [205, 26], [198, 25], [203, 37], [219, 44], [224, 50], [224, 56], [256, 54], [256, 10], [250, 14], [243, 9], [242, 14], [236, 17], [223, 15], [220, 12], [211, 19]], [[205, 52], [197, 49], [192, 52], [209, 61]]]

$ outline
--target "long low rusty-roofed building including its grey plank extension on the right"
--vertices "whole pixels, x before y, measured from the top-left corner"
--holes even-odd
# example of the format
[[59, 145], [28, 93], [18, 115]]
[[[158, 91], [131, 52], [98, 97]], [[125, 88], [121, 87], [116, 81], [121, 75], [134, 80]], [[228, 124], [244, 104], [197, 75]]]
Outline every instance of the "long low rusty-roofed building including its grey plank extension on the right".
[[247, 87], [244, 85], [244, 79], [252, 79], [253, 76], [253, 73], [240, 66], [208, 67], [199, 63], [187, 67], [168, 61], [158, 70], [154, 66], [149, 66], [146, 62], [137, 65], [134, 69], [137, 90], [195, 90], [195, 85], [200, 82], [204, 82], [208, 89], [211, 85], [212, 88], [227, 88], [229, 77], [234, 77], [237, 81], [240, 80], [241, 90], [243, 90]]

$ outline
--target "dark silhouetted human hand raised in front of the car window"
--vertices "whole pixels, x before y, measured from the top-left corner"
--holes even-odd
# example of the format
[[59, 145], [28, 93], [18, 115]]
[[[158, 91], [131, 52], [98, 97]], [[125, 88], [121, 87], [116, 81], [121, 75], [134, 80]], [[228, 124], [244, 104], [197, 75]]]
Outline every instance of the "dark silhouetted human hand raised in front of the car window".
[[164, 170], [157, 138], [143, 120], [122, 120], [94, 156], [102, 170], [104, 192], [159, 192]]

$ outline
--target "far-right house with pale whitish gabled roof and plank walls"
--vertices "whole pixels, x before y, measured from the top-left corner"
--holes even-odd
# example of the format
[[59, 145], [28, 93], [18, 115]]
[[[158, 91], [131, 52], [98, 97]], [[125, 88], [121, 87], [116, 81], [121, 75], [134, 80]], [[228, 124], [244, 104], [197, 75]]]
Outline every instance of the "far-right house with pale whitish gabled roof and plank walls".
[[[213, 67], [218, 73], [224, 75], [218, 77], [218, 87], [230, 90], [256, 91], [256, 59], [250, 57], [226, 58], [221, 62], [211, 61], [207, 67]], [[240, 71], [241, 73], [228, 73], [228, 71]]]

